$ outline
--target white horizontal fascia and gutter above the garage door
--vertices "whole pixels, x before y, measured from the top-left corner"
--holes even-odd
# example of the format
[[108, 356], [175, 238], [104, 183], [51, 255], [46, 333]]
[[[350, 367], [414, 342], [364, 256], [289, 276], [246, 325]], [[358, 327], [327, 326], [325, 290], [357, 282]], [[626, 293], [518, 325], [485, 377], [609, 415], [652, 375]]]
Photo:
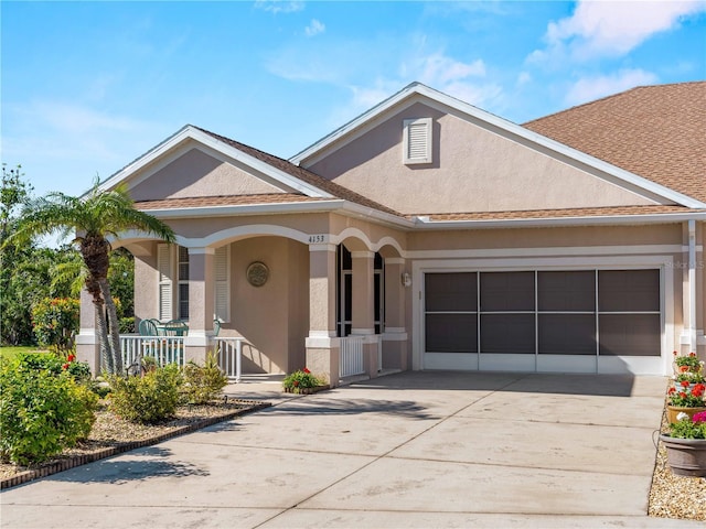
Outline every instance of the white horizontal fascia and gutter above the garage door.
[[652, 215], [610, 215], [560, 218], [510, 218], [489, 220], [428, 220], [417, 217], [416, 229], [490, 229], [490, 228], [550, 228], [574, 226], [609, 226], [641, 224], [674, 224], [685, 220], [706, 220], [706, 212], [664, 213]]

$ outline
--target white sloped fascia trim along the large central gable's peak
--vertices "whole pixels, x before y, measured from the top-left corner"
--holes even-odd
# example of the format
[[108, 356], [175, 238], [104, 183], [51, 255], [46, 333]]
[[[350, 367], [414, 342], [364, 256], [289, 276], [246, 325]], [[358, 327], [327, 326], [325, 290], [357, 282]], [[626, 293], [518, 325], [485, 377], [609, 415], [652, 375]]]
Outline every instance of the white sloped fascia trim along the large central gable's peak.
[[404, 108], [407, 108], [408, 106], [417, 101], [425, 102], [441, 111], [448, 111], [448, 108], [451, 108], [457, 112], [489, 123], [490, 126], [505, 132], [507, 136], [522, 138], [530, 143], [539, 145], [550, 152], [559, 154], [560, 156], [568, 158], [578, 162], [579, 164], [591, 168], [599, 173], [609, 175], [614, 179], [614, 181], [612, 182], [614, 185], [627, 184], [627, 191], [631, 191], [632, 193], [642, 195], [649, 199], [654, 201], [655, 203], [663, 202], [660, 199], [655, 199], [656, 197], [694, 209], [706, 207], [706, 203], [697, 201], [688, 195], [678, 193], [674, 190], [671, 190], [670, 187], [665, 187], [655, 182], [652, 182], [651, 180], [644, 179], [634, 173], [620, 169], [613, 164], [593, 158], [579, 150], [552, 140], [532, 130], [525, 129], [524, 127], [513, 123], [512, 121], [507, 121], [506, 119], [490, 114], [485, 110], [481, 110], [478, 107], [469, 105], [468, 102], [463, 102], [460, 99], [451, 97], [447, 94], [442, 94], [419, 83], [407, 86], [382, 104], [377, 105], [367, 112], [361, 115], [360, 117], [344, 125], [331, 134], [327, 136], [319, 142], [300, 152], [299, 154], [290, 159], [290, 161], [296, 164], [301, 164], [303, 161], [307, 161], [308, 164], [314, 163], [315, 161], [320, 160], [320, 158], [330, 154], [329, 148], [333, 143], [352, 132], [353, 133], [351, 134], [351, 140], [359, 138], [367, 130], [376, 126], [382, 120], [382, 117], [386, 111], [400, 104], [405, 99], [408, 100], [404, 106], [399, 106], [399, 110], [403, 110]]

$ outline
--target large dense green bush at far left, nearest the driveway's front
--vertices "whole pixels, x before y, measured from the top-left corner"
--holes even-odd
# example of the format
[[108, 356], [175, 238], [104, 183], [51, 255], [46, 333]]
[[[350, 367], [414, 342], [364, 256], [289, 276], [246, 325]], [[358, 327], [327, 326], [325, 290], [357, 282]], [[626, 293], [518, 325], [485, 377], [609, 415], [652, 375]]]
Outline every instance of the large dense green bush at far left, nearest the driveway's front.
[[[98, 397], [47, 354], [19, 355], [0, 367], [0, 455], [40, 463], [90, 432]], [[58, 371], [55, 364], [58, 363]]]

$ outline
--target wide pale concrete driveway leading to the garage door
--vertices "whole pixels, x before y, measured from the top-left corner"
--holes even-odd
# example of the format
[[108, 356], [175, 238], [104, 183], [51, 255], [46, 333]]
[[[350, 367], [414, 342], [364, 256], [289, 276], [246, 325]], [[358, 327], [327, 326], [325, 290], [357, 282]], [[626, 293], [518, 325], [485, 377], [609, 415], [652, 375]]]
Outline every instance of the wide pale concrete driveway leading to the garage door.
[[661, 377], [404, 373], [0, 495], [3, 528], [699, 527], [649, 518]]

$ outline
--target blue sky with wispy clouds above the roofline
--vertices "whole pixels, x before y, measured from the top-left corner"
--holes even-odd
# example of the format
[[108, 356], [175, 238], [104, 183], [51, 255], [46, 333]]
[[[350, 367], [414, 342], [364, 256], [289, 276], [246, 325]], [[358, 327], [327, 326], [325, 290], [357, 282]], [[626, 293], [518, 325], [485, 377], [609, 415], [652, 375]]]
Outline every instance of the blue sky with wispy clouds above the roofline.
[[1, 159], [78, 195], [185, 123], [290, 158], [418, 80], [514, 122], [706, 79], [702, 1], [0, 2]]

